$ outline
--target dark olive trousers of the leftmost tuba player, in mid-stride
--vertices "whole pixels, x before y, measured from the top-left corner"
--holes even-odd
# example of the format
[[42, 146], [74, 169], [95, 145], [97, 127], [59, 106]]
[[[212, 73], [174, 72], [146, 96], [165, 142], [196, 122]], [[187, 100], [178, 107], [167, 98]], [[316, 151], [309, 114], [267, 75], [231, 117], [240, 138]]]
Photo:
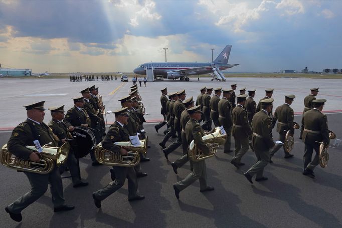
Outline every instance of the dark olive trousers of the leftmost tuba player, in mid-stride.
[[31, 190], [8, 205], [12, 213], [21, 213], [23, 209], [39, 199], [48, 190], [49, 184], [54, 207], [64, 205], [63, 184], [56, 163], [54, 169], [48, 174], [33, 172], [24, 172], [24, 174], [29, 178]]

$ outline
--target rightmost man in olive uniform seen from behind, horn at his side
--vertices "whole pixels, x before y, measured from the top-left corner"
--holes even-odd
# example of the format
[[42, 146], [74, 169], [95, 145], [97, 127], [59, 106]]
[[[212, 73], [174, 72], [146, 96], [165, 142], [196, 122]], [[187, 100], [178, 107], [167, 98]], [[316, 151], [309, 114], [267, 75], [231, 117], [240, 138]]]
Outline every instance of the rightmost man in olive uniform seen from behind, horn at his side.
[[[324, 146], [328, 146], [330, 143], [328, 120], [326, 115], [321, 113], [325, 102], [325, 99], [313, 100], [313, 108], [306, 111], [301, 120], [304, 126], [303, 142], [305, 144], [303, 175], [308, 175], [311, 178], [315, 177], [313, 169], [319, 164], [320, 143], [318, 142], [323, 142]], [[313, 150], [316, 151], [316, 154], [312, 160]]]

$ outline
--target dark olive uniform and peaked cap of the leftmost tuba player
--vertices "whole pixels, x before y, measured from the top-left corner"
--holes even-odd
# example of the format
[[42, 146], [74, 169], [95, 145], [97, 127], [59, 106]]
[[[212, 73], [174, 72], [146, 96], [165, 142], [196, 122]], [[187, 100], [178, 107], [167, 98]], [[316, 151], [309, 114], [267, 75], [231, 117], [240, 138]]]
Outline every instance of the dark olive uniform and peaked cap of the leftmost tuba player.
[[[33, 105], [24, 106], [27, 110], [39, 109], [44, 110], [44, 101]], [[25, 146], [34, 146], [34, 140], [39, 140], [40, 145], [44, 146], [48, 143], [52, 143], [49, 146], [58, 146], [58, 137], [54, 135], [52, 129], [48, 127], [44, 122], [38, 123], [31, 119], [20, 123], [12, 131], [10, 140], [7, 143], [8, 150], [15, 156], [23, 160], [29, 160], [32, 150]], [[6, 207], [8, 213], [20, 214], [23, 209], [29, 206], [31, 203], [39, 199], [47, 191], [49, 183], [51, 184], [52, 202], [56, 208], [65, 207], [65, 200], [63, 196], [63, 184], [61, 175], [59, 173], [57, 163], [54, 161], [54, 168], [50, 173], [39, 174], [33, 172], [24, 172], [28, 177], [31, 190], [18, 198], [15, 202]], [[73, 207], [74, 208], [74, 207]], [[69, 209], [73, 209], [69, 208]], [[12, 214], [11, 214], [12, 217]], [[21, 220], [20, 215], [20, 220]], [[17, 220], [17, 221], [20, 221]]]

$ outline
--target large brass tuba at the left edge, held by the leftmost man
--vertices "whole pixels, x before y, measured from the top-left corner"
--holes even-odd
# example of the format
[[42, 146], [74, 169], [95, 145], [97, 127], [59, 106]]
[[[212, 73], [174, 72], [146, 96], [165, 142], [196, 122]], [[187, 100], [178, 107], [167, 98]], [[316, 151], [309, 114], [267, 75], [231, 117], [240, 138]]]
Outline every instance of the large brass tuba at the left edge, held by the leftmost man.
[[[42, 147], [43, 152], [38, 153], [41, 157], [39, 162], [22, 160], [13, 156], [7, 148], [7, 144], [5, 144], [1, 149], [0, 162], [9, 168], [19, 171], [47, 174], [54, 169], [55, 162], [57, 166], [63, 165], [66, 162], [70, 150], [69, 143], [64, 143], [61, 147], [47, 146], [49, 144], [44, 145]], [[33, 152], [38, 152], [35, 146], [26, 146], [26, 148]]]

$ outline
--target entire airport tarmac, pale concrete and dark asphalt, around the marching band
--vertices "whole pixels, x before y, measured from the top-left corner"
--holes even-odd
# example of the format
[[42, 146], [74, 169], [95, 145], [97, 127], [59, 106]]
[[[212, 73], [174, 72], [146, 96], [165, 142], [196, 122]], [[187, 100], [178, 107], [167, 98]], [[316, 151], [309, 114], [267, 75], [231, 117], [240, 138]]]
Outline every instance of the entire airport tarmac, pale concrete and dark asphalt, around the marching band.
[[[328, 101], [324, 110], [327, 114], [329, 129], [341, 138], [342, 112], [340, 88], [342, 80], [316, 79], [255, 79], [228, 78], [227, 82], [168, 81], [147, 83], [147, 87], [139, 87], [146, 107], [145, 131], [148, 133], [151, 148], [148, 149], [149, 162], [141, 163], [142, 171], [148, 176], [138, 179], [139, 192], [146, 198], [137, 202], [127, 200], [127, 182], [117, 192], [102, 201], [102, 208], [97, 209], [91, 193], [110, 182], [109, 166], [91, 166], [89, 156], [80, 159], [82, 178], [89, 186], [73, 188], [70, 179], [63, 179], [64, 196], [68, 204], [76, 208], [68, 212], [53, 212], [51, 194], [48, 190], [35, 203], [22, 211], [23, 221], [13, 221], [4, 208], [30, 189], [28, 179], [23, 173], [0, 165], [0, 219], [2, 227], [341, 227], [342, 217], [342, 148], [329, 149], [328, 167], [316, 167], [315, 179], [301, 174], [304, 144], [298, 139], [299, 130], [294, 135], [294, 157], [283, 158], [280, 149], [273, 157], [273, 164], [265, 167], [264, 175], [269, 179], [264, 182], [250, 184], [243, 173], [256, 162], [254, 153], [249, 150], [242, 159], [246, 165], [236, 169], [230, 164], [232, 154], [223, 153], [222, 146], [215, 157], [206, 160], [208, 184], [214, 191], [201, 193], [199, 181], [180, 193], [180, 200], [174, 194], [172, 184], [182, 180], [190, 173], [190, 164], [178, 169], [176, 175], [170, 166], [182, 155], [182, 148], [169, 154], [165, 159], [158, 143], [163, 135], [156, 133], [153, 126], [160, 115], [160, 89], [167, 87], [169, 92], [186, 89], [187, 96], [197, 97], [202, 86], [230, 88], [237, 83], [238, 89], [257, 89], [255, 100], [264, 97], [265, 88], [275, 88], [274, 107], [282, 104], [283, 95], [295, 94], [296, 99], [291, 107], [298, 115], [295, 121], [300, 122], [303, 99], [309, 88], [319, 87], [317, 98]], [[119, 108], [118, 99], [126, 96], [132, 82], [79, 82], [71, 83], [68, 79], [17, 80], [0, 79], [2, 95], [0, 105], [1, 124], [0, 145], [4, 145], [11, 135], [11, 128], [26, 118], [22, 106], [46, 100], [47, 106], [72, 104], [71, 97], [79, 96], [85, 87], [98, 85], [107, 110]], [[25, 88], [22, 88], [25, 87]], [[43, 88], [43, 89], [42, 89]], [[238, 93], [238, 91], [236, 91]], [[113, 121], [113, 115], [108, 121]], [[50, 121], [47, 111], [45, 122]], [[278, 133], [273, 129], [274, 139]], [[172, 139], [167, 145], [172, 143]], [[232, 138], [232, 148], [234, 140]], [[68, 173], [63, 174], [64, 176]]]

